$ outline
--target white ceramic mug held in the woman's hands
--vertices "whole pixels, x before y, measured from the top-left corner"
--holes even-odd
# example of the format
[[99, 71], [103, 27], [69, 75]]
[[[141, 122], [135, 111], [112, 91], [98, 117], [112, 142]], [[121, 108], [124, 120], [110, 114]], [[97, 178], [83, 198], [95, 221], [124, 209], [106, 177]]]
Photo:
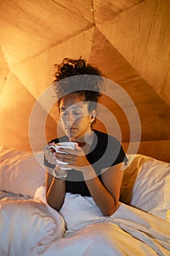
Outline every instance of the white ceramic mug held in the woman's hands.
[[[57, 143], [57, 144], [55, 144], [55, 146], [51, 145], [48, 148], [54, 148], [55, 152], [60, 152], [62, 154], [67, 154], [66, 152], [59, 151], [58, 149], [59, 148], [75, 149], [76, 145], [78, 145], [78, 143], [69, 141], [69, 142]], [[62, 165], [68, 165], [68, 162], [62, 162], [62, 161], [59, 161], [59, 160], [56, 160], [56, 163], [57, 164], [62, 164]], [[63, 170], [70, 170], [71, 168], [69, 168], [69, 167], [61, 167], [61, 169], [63, 169]]]

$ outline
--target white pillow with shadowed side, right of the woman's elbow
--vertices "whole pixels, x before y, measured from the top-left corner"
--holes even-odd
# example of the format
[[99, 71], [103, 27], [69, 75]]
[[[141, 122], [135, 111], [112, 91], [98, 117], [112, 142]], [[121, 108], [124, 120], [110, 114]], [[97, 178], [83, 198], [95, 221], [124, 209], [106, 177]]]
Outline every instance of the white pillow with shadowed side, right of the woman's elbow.
[[120, 200], [169, 220], [170, 164], [141, 154], [128, 155], [128, 160], [131, 164], [124, 171]]

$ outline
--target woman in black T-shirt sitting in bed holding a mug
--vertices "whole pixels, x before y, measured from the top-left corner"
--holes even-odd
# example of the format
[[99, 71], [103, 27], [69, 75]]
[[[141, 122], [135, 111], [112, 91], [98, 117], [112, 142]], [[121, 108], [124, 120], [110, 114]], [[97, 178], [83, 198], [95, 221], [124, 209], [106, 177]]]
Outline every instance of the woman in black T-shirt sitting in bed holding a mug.
[[[83, 59], [64, 59], [56, 67], [54, 84], [66, 135], [48, 146], [63, 141], [77, 142], [77, 146], [61, 152], [45, 148], [47, 203], [60, 211], [66, 192], [71, 192], [93, 197], [103, 216], [110, 216], [119, 206], [121, 166], [127, 159], [116, 138], [92, 127], [101, 97], [101, 72]], [[71, 170], [63, 170], [64, 166]]]

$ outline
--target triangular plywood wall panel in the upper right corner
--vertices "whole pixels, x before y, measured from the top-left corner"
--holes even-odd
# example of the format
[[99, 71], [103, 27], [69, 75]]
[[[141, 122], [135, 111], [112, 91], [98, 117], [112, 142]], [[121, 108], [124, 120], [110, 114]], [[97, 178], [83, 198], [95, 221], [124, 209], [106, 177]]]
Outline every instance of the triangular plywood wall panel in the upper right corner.
[[139, 75], [170, 105], [170, 1], [150, 0], [120, 13], [98, 29]]

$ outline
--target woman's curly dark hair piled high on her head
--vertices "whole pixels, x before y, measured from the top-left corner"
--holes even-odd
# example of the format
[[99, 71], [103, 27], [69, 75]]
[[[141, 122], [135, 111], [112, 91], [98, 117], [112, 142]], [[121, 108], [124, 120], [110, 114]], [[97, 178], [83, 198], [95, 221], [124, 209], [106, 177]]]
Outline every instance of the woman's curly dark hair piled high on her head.
[[102, 73], [97, 67], [87, 64], [85, 59], [63, 59], [55, 64], [55, 92], [58, 95], [58, 106], [61, 98], [69, 93], [80, 94], [89, 102], [88, 110], [96, 108], [101, 89], [104, 87]]

